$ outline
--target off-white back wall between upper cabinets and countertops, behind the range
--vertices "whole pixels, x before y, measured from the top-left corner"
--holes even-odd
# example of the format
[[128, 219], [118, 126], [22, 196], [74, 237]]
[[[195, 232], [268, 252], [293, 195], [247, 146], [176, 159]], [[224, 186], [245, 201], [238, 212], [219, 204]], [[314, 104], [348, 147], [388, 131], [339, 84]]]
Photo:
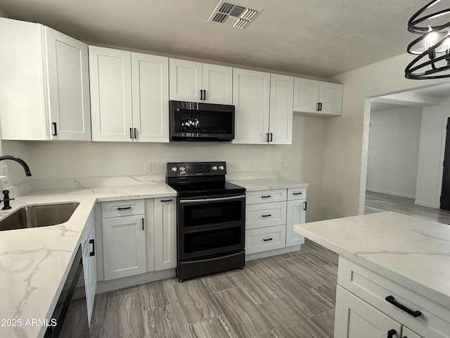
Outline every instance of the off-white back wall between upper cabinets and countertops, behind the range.
[[[325, 144], [324, 118], [294, 116], [292, 145], [246, 145], [221, 142], [17, 142], [3, 141], [4, 154], [20, 155], [30, 165], [32, 180], [75, 177], [164, 175], [171, 161], [226, 161], [228, 171], [278, 171], [281, 177], [306, 182], [307, 220], [320, 220], [321, 168]], [[288, 159], [288, 168], [283, 160]], [[11, 161], [8, 161], [11, 162]], [[23, 182], [20, 165], [13, 167], [13, 184]], [[11, 172], [11, 170], [10, 170]]]

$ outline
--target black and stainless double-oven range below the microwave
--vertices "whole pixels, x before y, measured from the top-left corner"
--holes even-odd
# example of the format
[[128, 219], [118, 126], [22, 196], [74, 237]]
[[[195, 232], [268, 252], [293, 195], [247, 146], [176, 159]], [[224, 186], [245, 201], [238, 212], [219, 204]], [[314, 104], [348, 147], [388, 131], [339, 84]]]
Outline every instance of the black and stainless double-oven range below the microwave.
[[167, 163], [176, 197], [179, 282], [245, 265], [245, 188], [225, 180], [225, 162]]

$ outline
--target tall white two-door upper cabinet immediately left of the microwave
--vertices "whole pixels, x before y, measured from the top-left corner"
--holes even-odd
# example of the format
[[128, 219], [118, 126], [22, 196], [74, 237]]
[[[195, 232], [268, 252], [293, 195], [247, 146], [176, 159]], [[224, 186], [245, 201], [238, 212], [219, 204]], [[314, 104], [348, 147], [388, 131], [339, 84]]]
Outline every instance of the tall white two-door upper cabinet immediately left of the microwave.
[[168, 58], [89, 46], [92, 140], [169, 142]]

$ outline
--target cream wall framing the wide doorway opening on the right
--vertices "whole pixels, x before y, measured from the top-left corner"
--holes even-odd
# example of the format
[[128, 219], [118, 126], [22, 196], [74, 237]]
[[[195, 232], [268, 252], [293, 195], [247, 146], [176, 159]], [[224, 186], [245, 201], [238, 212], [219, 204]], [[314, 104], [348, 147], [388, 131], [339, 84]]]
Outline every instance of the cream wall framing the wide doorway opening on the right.
[[321, 192], [323, 219], [364, 213], [371, 115], [367, 98], [439, 82], [406, 79], [404, 68], [412, 58], [401, 54], [330, 79], [344, 84], [344, 96], [342, 116], [326, 120]]

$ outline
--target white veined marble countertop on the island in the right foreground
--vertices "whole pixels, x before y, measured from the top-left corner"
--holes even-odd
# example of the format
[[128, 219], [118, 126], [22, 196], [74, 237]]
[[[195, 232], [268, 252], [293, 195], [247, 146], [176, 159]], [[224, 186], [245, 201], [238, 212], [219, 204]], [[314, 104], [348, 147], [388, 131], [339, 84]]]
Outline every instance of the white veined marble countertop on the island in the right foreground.
[[387, 211], [294, 230], [450, 308], [450, 225]]

